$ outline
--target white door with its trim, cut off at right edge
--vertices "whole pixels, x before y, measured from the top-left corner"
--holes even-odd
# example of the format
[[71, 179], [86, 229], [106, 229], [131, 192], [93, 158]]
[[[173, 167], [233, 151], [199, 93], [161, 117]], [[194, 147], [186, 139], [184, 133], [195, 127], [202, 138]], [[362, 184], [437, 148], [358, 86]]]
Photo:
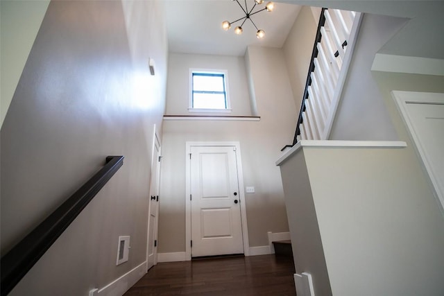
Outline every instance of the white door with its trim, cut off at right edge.
[[393, 95], [444, 209], [444, 94]]

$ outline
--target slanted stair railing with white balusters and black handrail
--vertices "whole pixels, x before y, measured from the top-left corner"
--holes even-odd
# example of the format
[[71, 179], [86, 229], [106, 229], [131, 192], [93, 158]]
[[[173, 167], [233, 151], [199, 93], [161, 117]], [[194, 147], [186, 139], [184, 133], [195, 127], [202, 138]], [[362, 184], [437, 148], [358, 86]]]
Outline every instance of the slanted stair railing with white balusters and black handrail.
[[360, 12], [322, 9], [292, 146], [330, 136], [360, 24]]

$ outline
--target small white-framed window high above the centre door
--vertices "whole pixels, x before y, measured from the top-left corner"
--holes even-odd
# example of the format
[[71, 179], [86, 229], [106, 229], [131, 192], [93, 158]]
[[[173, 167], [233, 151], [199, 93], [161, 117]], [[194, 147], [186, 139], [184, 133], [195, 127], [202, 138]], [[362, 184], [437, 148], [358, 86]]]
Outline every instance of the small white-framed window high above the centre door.
[[189, 111], [230, 112], [226, 71], [190, 70]]

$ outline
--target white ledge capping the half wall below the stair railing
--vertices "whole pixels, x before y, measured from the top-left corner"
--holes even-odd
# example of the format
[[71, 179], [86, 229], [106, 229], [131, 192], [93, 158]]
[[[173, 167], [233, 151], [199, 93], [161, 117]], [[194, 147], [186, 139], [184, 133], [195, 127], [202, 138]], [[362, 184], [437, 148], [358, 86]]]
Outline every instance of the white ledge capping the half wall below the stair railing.
[[404, 141], [337, 141], [337, 140], [301, 140], [295, 146], [287, 150], [276, 161], [276, 166], [280, 166], [291, 155], [298, 153], [302, 147], [307, 148], [404, 148], [407, 143]]

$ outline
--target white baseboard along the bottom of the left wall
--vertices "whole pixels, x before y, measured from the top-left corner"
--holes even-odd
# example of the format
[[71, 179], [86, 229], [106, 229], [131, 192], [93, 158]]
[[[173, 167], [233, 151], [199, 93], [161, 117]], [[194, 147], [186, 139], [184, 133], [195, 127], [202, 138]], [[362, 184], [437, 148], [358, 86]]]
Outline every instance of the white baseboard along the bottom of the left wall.
[[121, 296], [146, 274], [146, 261], [94, 293], [100, 296]]

